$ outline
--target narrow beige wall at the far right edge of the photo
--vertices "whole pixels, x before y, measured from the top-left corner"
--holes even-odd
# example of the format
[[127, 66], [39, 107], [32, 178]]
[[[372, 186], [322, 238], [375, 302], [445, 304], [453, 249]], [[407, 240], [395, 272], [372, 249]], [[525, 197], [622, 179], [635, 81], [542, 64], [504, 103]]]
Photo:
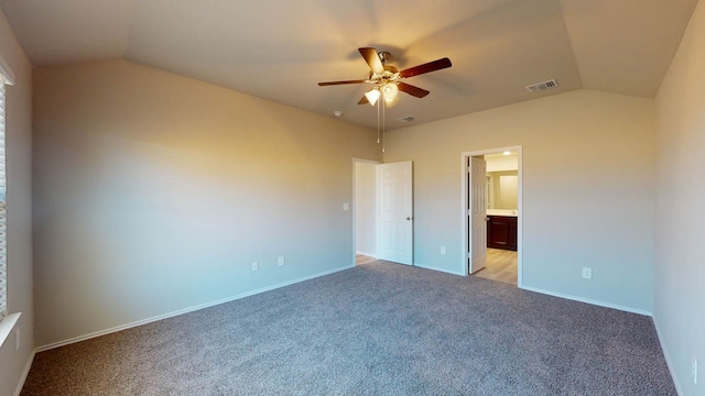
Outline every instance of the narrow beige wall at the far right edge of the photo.
[[[705, 3], [657, 97], [654, 321], [681, 395], [705, 395]], [[699, 378], [691, 369], [699, 360]]]

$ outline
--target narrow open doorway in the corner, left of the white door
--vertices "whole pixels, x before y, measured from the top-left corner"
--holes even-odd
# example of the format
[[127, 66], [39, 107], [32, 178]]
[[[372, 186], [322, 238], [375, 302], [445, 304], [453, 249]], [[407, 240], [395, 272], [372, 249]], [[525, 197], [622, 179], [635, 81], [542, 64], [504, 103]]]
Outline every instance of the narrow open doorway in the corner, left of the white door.
[[352, 223], [355, 265], [377, 260], [377, 165], [371, 160], [354, 158]]

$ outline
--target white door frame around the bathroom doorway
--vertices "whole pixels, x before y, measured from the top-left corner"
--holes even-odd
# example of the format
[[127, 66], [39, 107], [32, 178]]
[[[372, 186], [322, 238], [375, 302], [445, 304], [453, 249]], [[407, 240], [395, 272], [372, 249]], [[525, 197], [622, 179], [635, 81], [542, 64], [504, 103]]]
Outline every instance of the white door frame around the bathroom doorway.
[[463, 252], [462, 252], [462, 265], [463, 268], [459, 273], [465, 276], [470, 275], [468, 270], [468, 252], [470, 251], [470, 246], [468, 245], [468, 238], [471, 237], [471, 230], [468, 229], [467, 224], [467, 200], [468, 200], [468, 184], [467, 184], [467, 158], [477, 156], [477, 155], [486, 155], [486, 154], [497, 154], [506, 151], [516, 151], [519, 154], [518, 157], [518, 169], [517, 174], [519, 175], [519, 186], [517, 188], [517, 287], [522, 288], [523, 286], [523, 265], [522, 265], [522, 256], [523, 256], [523, 166], [522, 166], [522, 146], [506, 146], [506, 147], [497, 147], [497, 148], [487, 148], [487, 150], [477, 150], [470, 152], [464, 152], [460, 154], [460, 219], [463, 219]]

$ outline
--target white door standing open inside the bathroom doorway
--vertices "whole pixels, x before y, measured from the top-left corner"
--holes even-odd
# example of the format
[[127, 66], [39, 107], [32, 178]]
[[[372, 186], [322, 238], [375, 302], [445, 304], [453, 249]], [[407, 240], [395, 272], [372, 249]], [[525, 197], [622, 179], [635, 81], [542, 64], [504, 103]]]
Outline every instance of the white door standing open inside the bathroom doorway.
[[487, 264], [487, 187], [486, 164], [481, 157], [468, 157], [468, 245], [469, 270], [474, 274]]

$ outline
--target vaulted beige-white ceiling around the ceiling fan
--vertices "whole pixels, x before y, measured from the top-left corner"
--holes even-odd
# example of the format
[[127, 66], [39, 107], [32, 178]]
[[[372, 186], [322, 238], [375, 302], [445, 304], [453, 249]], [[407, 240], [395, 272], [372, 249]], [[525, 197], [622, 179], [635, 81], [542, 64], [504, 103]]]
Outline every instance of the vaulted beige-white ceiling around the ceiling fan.
[[[405, 82], [387, 110], [429, 122], [592, 88], [651, 98], [697, 0], [0, 0], [34, 65], [126, 58], [377, 128], [356, 105], [368, 85], [357, 48], [389, 51], [400, 69], [449, 57]], [[558, 88], [527, 85], [555, 78]], [[413, 124], [412, 123], [412, 124]]]

